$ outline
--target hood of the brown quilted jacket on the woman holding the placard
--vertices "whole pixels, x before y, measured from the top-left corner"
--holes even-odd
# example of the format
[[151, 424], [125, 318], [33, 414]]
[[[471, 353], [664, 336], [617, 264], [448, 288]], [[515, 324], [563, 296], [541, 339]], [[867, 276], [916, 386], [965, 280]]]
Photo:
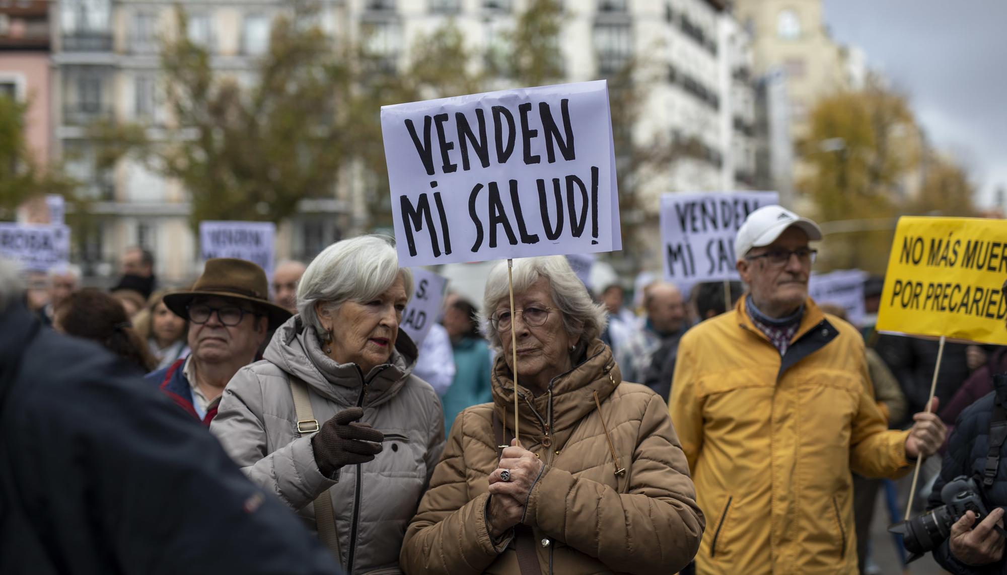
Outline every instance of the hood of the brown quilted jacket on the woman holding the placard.
[[[509, 428], [514, 427], [513, 380], [503, 354], [498, 354], [493, 362], [493, 406], [502, 414], [505, 425]], [[621, 381], [622, 374], [612, 358], [612, 350], [598, 339], [587, 347], [580, 363], [554, 377], [548, 392], [538, 397], [521, 385], [519, 373], [518, 407], [523, 436], [541, 437], [545, 424], [549, 424], [554, 433], [572, 427], [596, 408], [595, 391], [598, 392], [598, 401], [603, 402]]]

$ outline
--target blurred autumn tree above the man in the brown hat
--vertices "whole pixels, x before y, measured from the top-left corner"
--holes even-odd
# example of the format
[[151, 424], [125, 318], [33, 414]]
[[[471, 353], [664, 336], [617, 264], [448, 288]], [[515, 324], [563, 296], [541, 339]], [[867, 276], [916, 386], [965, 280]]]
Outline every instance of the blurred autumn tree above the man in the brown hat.
[[[185, 14], [176, 13], [185, 30]], [[172, 125], [151, 139], [142, 126], [96, 126], [109, 161], [135, 153], [191, 198], [193, 227], [204, 219], [279, 221], [303, 198], [331, 196], [351, 145], [352, 74], [339, 50], [299, 14], [273, 22], [254, 78], [217, 72], [206, 49], [184, 33], [161, 41]]]

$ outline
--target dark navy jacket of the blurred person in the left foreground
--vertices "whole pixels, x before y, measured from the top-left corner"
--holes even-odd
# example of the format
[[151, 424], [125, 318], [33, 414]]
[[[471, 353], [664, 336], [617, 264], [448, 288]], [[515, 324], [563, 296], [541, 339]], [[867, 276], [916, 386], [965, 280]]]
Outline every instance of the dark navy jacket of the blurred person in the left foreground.
[[0, 312], [0, 573], [336, 573], [217, 440], [96, 345]]

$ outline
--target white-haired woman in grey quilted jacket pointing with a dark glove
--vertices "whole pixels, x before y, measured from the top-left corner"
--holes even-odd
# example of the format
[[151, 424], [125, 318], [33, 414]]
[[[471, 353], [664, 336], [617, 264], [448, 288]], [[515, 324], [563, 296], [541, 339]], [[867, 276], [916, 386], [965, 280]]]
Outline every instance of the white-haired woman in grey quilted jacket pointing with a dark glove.
[[347, 573], [398, 573], [407, 524], [444, 445], [440, 401], [399, 330], [413, 291], [382, 236], [328, 246], [298, 314], [228, 384], [210, 431], [308, 520]]

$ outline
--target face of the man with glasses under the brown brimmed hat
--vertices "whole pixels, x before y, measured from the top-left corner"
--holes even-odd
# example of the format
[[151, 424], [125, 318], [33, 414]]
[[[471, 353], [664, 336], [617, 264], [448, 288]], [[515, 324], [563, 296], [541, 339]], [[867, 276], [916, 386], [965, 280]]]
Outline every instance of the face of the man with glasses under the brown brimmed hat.
[[266, 319], [240, 300], [198, 297], [187, 313], [189, 348], [199, 361], [251, 363], [266, 338]]

